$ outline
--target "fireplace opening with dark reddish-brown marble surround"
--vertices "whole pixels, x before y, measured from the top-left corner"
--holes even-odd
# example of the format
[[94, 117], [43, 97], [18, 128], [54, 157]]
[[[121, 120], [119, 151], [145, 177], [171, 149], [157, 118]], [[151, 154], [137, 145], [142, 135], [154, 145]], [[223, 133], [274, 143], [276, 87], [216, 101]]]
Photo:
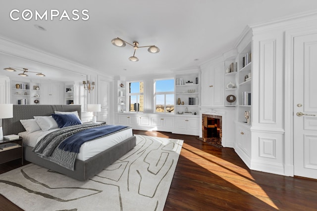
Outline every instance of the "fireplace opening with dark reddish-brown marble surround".
[[216, 147], [222, 147], [222, 117], [211, 114], [202, 114], [203, 141]]

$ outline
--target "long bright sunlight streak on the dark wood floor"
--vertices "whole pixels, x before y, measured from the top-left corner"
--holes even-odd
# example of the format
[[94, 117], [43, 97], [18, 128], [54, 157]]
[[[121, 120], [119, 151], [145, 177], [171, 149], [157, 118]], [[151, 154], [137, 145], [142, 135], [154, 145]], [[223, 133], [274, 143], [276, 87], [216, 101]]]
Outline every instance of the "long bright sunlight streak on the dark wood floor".
[[[203, 167], [204, 169], [209, 170], [213, 174], [221, 177], [222, 179], [226, 180], [227, 182], [230, 182], [231, 184], [240, 188], [246, 193], [263, 201], [265, 204], [278, 210], [278, 208], [275, 206], [273, 201], [264, 192], [262, 187], [255, 182], [255, 179], [248, 172], [248, 170], [243, 169], [239, 166], [233, 165], [230, 162], [227, 162], [221, 158], [213, 156], [209, 153], [201, 151], [185, 143], [183, 144], [182, 150], [186, 150], [187, 153], [192, 154], [189, 157], [185, 156], [188, 160], [196, 163], [197, 165]], [[184, 153], [183, 153], [183, 156], [184, 156]], [[202, 158], [209, 162], [201, 162]], [[212, 166], [215, 166], [215, 165], [218, 167], [221, 167], [221, 171], [219, 171], [219, 168], [217, 168], [217, 170], [213, 170]], [[241, 173], [236, 172], [234, 169], [239, 169], [239, 172], [243, 172], [243, 175]]]

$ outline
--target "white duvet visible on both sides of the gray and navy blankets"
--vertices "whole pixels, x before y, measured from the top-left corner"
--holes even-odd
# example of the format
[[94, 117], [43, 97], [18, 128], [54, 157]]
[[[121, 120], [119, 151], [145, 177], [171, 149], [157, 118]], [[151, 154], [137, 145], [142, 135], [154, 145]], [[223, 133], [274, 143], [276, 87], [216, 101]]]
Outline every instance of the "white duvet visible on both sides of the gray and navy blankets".
[[[44, 137], [46, 134], [54, 130], [56, 129], [52, 129], [49, 131], [38, 130], [38, 131], [31, 132], [29, 134], [26, 131], [24, 131], [24, 132], [19, 132], [18, 135], [23, 138], [24, 145], [34, 147], [37, 144], [37, 142], [41, 140], [42, 137]], [[94, 157], [95, 155], [105, 151], [106, 149], [120, 143], [121, 141], [131, 136], [133, 136], [132, 128], [128, 128], [128, 129], [113, 133], [105, 137], [96, 138], [94, 140], [87, 141], [83, 145], [81, 145], [76, 159], [81, 161], [86, 161], [89, 158]]]

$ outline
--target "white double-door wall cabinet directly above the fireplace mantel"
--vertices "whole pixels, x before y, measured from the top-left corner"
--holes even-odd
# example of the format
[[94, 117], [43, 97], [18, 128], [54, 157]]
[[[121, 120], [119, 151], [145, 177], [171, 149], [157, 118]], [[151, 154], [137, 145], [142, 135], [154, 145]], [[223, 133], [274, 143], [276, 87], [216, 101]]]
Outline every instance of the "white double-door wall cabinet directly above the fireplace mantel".
[[209, 62], [201, 66], [201, 106], [224, 106], [224, 62]]

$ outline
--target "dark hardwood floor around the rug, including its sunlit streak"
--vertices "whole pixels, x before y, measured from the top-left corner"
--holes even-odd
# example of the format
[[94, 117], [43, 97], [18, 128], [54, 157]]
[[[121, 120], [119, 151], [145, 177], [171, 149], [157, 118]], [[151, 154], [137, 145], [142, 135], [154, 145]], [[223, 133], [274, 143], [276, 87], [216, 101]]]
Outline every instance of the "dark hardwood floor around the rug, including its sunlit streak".
[[[317, 211], [317, 180], [249, 170], [232, 148], [216, 148], [197, 136], [133, 130], [183, 139], [164, 211]], [[21, 166], [0, 165], [0, 173]], [[0, 196], [0, 210], [21, 211]]]

